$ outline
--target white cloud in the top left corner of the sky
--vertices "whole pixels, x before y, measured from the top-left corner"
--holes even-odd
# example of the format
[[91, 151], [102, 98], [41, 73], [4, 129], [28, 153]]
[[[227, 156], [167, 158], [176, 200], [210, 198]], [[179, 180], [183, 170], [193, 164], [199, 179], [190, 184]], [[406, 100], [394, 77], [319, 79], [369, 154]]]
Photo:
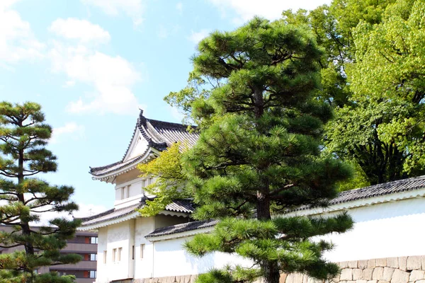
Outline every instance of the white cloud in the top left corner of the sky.
[[23, 21], [19, 13], [11, 9], [16, 2], [0, 1], [0, 65], [3, 67], [23, 59], [40, 58], [45, 48], [35, 39], [30, 23]]

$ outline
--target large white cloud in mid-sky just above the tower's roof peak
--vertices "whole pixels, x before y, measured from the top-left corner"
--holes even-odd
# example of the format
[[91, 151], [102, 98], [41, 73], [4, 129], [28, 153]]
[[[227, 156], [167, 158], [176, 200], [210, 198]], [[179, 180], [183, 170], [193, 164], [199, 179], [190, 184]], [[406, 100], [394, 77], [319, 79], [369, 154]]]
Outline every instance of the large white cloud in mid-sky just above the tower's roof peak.
[[54, 72], [66, 74], [69, 81], [94, 87], [91, 97], [69, 103], [67, 111], [123, 115], [137, 112], [137, 98], [131, 87], [140, 81], [141, 75], [123, 57], [112, 57], [85, 45], [67, 45], [58, 41], [53, 42], [49, 56]]

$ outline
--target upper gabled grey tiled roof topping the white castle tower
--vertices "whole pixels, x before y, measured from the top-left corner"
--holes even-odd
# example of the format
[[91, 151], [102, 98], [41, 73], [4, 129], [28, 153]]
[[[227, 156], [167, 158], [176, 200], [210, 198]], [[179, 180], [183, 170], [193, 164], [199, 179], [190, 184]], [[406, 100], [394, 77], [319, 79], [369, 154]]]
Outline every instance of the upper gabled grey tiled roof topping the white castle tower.
[[[196, 126], [191, 126], [191, 127], [196, 129]], [[188, 146], [194, 146], [196, 144], [196, 141], [198, 141], [198, 137], [199, 137], [198, 132], [189, 132], [187, 125], [147, 119], [146, 117], [143, 116], [142, 110], [140, 111], [140, 116], [137, 119], [136, 127], [133, 132], [132, 138], [136, 134], [137, 129], [140, 131], [142, 136], [147, 140], [149, 147], [152, 147], [159, 151], [163, 151], [164, 149], [167, 148], [167, 146], [171, 146], [171, 144], [174, 144], [176, 141], [181, 141], [183, 143], [186, 143]], [[139, 156], [136, 156], [135, 158], [132, 158], [128, 161], [124, 161], [125, 156], [127, 156], [128, 151], [130, 150], [131, 141], [132, 139], [130, 140], [130, 144], [128, 144], [128, 147], [127, 147], [127, 150], [125, 151], [123, 159], [106, 166], [91, 167], [90, 168], [91, 175], [94, 175], [94, 176], [105, 175], [107, 173], [119, 171], [121, 168], [124, 168], [125, 166], [129, 166], [132, 163], [137, 163], [137, 161], [140, 161], [142, 156], [145, 156], [145, 154], [147, 154], [146, 151], [140, 154]], [[149, 150], [149, 147], [147, 150]]]

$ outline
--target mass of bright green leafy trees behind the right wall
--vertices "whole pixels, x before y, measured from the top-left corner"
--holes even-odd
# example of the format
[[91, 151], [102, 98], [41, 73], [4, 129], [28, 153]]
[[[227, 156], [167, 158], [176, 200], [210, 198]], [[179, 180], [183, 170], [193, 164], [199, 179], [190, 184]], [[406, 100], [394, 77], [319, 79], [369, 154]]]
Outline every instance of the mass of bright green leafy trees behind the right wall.
[[424, 173], [419, 6], [416, 22], [409, 20], [416, 2], [334, 0], [283, 13], [283, 21], [308, 26], [326, 52], [316, 96], [335, 108], [336, 119], [324, 144], [365, 176], [352, 188]]

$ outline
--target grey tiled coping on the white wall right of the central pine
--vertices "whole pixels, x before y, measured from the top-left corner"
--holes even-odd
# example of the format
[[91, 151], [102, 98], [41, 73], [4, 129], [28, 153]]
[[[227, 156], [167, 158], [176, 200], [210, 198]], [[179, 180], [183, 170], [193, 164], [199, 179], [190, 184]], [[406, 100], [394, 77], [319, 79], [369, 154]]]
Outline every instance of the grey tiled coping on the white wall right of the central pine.
[[[356, 190], [347, 190], [345, 192], [340, 192], [337, 197], [329, 202], [329, 205], [340, 204], [344, 202], [353, 202], [354, 200], [363, 200], [370, 197], [379, 197], [382, 195], [395, 194], [397, 192], [406, 192], [409, 190], [419, 190], [425, 187], [425, 175], [408, 178], [403, 180], [397, 180], [389, 183], [382, 183], [378, 185], [371, 185], [369, 187], [361, 187]], [[310, 207], [304, 206], [297, 210], [305, 210]]]

